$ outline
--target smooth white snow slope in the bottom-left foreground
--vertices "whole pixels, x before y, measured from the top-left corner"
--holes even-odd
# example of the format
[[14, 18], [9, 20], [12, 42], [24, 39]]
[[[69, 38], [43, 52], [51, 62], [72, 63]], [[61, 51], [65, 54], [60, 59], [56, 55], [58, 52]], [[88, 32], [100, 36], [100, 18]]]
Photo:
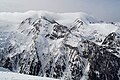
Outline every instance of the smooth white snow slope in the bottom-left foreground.
[[13, 73], [7, 69], [0, 67], [0, 80], [58, 80], [58, 79]]

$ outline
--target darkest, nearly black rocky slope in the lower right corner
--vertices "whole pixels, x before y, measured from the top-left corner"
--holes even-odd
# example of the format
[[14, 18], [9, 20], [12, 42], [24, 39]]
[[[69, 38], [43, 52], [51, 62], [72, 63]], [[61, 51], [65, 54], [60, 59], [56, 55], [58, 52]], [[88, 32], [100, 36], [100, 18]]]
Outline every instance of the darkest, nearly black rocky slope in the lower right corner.
[[95, 50], [88, 58], [90, 62], [88, 80], [119, 80], [117, 74], [120, 68], [120, 58], [109, 52], [106, 47], [93, 46], [93, 48]]

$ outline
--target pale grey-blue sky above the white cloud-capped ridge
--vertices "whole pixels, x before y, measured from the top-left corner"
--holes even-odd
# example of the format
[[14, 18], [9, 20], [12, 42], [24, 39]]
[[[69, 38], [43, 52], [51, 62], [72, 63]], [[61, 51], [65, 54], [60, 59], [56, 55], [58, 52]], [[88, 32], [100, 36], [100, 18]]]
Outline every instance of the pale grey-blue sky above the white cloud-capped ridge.
[[82, 11], [100, 20], [120, 22], [120, 0], [0, 0], [0, 12], [28, 10]]

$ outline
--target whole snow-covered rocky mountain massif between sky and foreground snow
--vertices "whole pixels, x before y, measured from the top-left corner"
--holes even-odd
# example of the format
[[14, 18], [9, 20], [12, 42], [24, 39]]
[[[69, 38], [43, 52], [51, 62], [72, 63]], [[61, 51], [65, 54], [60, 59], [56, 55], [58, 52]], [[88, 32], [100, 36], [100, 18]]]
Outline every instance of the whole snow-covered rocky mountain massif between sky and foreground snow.
[[120, 27], [78, 13], [0, 13], [0, 66], [64, 80], [120, 80]]

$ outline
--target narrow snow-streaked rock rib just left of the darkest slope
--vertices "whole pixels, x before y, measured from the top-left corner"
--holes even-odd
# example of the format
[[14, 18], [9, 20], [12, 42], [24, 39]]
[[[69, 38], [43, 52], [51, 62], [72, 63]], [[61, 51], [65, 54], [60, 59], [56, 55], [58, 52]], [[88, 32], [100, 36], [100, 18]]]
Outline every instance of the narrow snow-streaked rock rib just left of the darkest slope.
[[65, 47], [70, 50], [69, 54], [69, 68], [72, 80], [80, 80], [83, 76], [83, 69], [85, 67], [82, 57], [77, 47], [65, 44]]

